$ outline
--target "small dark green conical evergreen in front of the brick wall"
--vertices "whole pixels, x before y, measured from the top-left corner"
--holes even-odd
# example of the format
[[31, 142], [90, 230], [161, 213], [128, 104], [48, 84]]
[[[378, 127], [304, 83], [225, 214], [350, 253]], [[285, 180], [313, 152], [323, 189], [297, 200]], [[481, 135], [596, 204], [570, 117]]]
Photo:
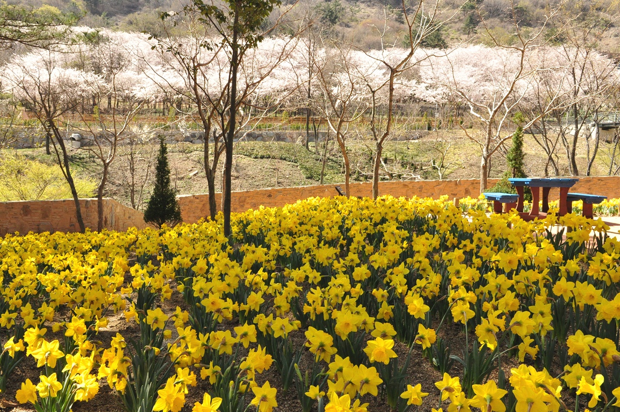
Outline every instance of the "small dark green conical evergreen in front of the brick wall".
[[170, 187], [170, 168], [168, 166], [168, 150], [164, 139], [160, 139], [157, 168], [155, 171], [155, 187], [146, 210], [144, 222], [152, 223], [161, 228], [164, 223], [174, 226], [181, 222], [181, 210], [174, 189]]

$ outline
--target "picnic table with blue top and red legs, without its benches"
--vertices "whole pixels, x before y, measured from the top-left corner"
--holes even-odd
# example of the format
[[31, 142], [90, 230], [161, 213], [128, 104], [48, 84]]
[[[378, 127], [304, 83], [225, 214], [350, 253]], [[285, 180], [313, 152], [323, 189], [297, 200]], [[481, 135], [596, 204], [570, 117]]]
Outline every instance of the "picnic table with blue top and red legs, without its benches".
[[[569, 189], [573, 187], [579, 179], [572, 179], [568, 177], [525, 177], [525, 178], [513, 178], [508, 179], [516, 188], [516, 192], [519, 194], [519, 200], [516, 204], [516, 210], [519, 212], [524, 220], [534, 220], [534, 218], [544, 218], [549, 211], [549, 191], [552, 187], [558, 187], [560, 189], [559, 199], [559, 216], [564, 216], [566, 213], [570, 213], [567, 196]], [[532, 210], [529, 213], [523, 213], [523, 188], [529, 187], [532, 191]], [[541, 200], [540, 189], [542, 188], [542, 208], [539, 208], [538, 202]]]

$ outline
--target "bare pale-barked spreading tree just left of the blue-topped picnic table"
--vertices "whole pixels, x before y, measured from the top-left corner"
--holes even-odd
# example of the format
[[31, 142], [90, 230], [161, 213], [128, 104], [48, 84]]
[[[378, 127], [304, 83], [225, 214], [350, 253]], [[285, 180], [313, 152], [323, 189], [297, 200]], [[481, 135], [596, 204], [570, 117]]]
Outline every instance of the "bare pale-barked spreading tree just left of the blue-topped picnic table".
[[[463, 128], [467, 138], [480, 148], [480, 192], [487, 188], [490, 159], [511, 137], [506, 128], [515, 114], [518, 102], [531, 91], [531, 84], [542, 69], [535, 52], [548, 42], [544, 36], [549, 21], [556, 16], [563, 3], [549, 9], [534, 31], [521, 29], [520, 20], [513, 12], [511, 24], [513, 42], [505, 44], [489, 30], [482, 20], [487, 36], [494, 47], [470, 46], [457, 48], [432, 61], [433, 81], [446, 87], [461, 99], [478, 127]], [[514, 7], [513, 7], [514, 9]], [[553, 96], [536, 119], [549, 113], [560, 103], [562, 92]], [[529, 128], [535, 119], [523, 128]]]

